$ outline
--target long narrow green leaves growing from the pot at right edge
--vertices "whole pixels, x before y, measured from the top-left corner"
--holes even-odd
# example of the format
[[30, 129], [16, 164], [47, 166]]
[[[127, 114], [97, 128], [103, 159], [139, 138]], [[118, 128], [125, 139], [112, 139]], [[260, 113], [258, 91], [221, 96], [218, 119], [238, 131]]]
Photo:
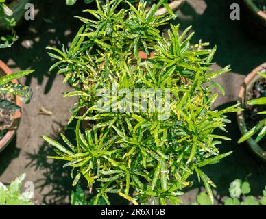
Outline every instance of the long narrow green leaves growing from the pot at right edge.
[[[266, 73], [258, 73], [258, 75], [266, 79]], [[266, 97], [261, 97], [258, 99], [247, 101], [247, 104], [266, 105]], [[258, 114], [265, 115], [266, 111], [258, 112]], [[248, 138], [252, 138], [252, 136], [254, 136], [256, 133], [258, 133], [258, 135], [256, 136], [256, 142], [260, 142], [261, 140], [263, 140], [263, 138], [266, 135], [266, 118], [261, 120], [256, 126], [250, 129], [250, 131], [247, 131], [247, 133], [245, 133], [245, 135], [243, 135], [239, 139], [238, 143], [245, 142], [245, 140], [247, 140]]]

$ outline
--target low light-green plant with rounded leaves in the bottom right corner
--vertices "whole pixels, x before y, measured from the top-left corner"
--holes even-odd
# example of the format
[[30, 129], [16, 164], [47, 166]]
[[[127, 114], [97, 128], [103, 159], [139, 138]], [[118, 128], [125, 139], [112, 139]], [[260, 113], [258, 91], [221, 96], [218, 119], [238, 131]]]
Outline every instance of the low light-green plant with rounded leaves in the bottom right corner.
[[[224, 205], [266, 205], [266, 186], [263, 190], [263, 196], [261, 198], [255, 198], [254, 196], [247, 196], [250, 194], [250, 183], [247, 181], [241, 181], [241, 179], [235, 179], [229, 188], [230, 197], [226, 197]], [[192, 205], [212, 205], [210, 198], [206, 192], [201, 192], [197, 196], [197, 202]]]

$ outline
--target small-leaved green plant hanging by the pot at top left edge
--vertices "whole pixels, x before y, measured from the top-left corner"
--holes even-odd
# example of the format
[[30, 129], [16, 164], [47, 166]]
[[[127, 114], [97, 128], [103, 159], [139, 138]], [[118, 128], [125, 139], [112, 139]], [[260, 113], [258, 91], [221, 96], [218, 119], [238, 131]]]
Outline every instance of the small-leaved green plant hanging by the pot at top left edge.
[[0, 0], [0, 15], [4, 14], [5, 16], [2, 16], [2, 18], [5, 18], [6, 29], [10, 31], [10, 34], [0, 36], [0, 48], [3, 48], [4, 45], [7, 47], [10, 46], [10, 44], [14, 43], [19, 38], [14, 29], [14, 27], [16, 27], [16, 21], [12, 18], [13, 12], [8, 8], [8, 5], [5, 5], [5, 0]]

